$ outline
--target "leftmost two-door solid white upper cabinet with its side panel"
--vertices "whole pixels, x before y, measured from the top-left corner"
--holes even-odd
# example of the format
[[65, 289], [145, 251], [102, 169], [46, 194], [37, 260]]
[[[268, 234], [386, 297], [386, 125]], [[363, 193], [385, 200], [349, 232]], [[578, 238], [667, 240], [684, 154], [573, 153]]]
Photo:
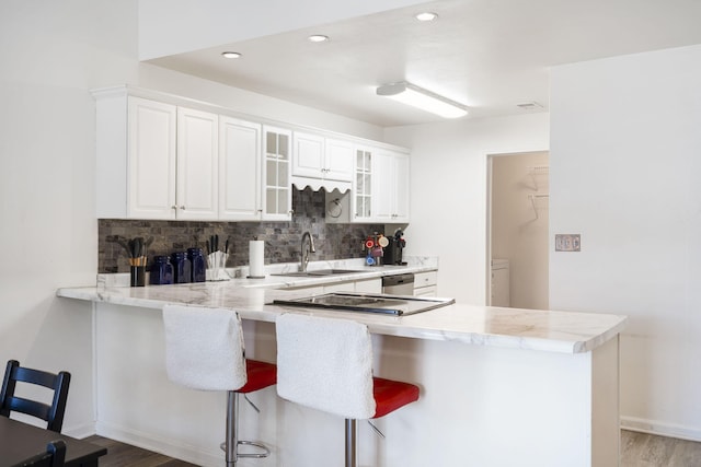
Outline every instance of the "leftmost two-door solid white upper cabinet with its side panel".
[[217, 218], [217, 115], [95, 93], [96, 214], [120, 219]]

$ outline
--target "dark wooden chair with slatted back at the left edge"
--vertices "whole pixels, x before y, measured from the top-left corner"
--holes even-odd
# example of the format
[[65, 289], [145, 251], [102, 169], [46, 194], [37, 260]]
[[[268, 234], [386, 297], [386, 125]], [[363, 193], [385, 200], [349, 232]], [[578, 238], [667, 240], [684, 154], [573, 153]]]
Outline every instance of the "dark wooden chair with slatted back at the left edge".
[[[28, 400], [14, 395], [16, 383], [30, 383], [54, 390], [51, 405]], [[10, 412], [26, 413], [47, 422], [47, 430], [60, 433], [64, 425], [64, 412], [68, 399], [70, 373], [58, 374], [20, 366], [16, 360], [10, 360], [0, 392], [0, 416], [10, 417]]]

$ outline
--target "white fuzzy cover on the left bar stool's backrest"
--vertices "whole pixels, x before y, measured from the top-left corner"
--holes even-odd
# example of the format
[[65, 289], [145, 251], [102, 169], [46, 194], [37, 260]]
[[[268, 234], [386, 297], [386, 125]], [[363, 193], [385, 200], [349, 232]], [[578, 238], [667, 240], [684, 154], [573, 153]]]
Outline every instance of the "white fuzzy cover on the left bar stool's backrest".
[[246, 383], [243, 332], [237, 312], [165, 305], [168, 377], [194, 389], [235, 390]]

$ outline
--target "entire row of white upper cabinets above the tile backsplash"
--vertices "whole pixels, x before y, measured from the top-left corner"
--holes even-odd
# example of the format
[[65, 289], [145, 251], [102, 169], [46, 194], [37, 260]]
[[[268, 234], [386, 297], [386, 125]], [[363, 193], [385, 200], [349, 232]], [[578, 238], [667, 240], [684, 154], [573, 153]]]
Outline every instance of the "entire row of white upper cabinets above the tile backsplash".
[[[329, 222], [409, 219], [401, 195], [409, 192], [409, 159], [375, 166], [378, 148], [394, 154], [389, 145], [323, 130], [294, 135], [294, 125], [241, 120], [211, 104], [127, 85], [93, 96], [97, 218], [289, 221], [295, 183], [326, 189]], [[381, 197], [391, 196], [384, 205], [379, 178], [391, 180], [381, 186]]]

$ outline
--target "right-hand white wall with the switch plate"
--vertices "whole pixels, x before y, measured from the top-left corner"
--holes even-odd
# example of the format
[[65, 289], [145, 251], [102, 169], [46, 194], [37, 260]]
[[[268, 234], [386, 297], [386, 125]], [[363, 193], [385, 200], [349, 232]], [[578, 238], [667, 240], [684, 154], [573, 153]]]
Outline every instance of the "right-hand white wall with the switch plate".
[[[550, 304], [630, 316], [623, 424], [701, 440], [701, 46], [555, 68]], [[552, 238], [552, 235], [551, 235]]]

